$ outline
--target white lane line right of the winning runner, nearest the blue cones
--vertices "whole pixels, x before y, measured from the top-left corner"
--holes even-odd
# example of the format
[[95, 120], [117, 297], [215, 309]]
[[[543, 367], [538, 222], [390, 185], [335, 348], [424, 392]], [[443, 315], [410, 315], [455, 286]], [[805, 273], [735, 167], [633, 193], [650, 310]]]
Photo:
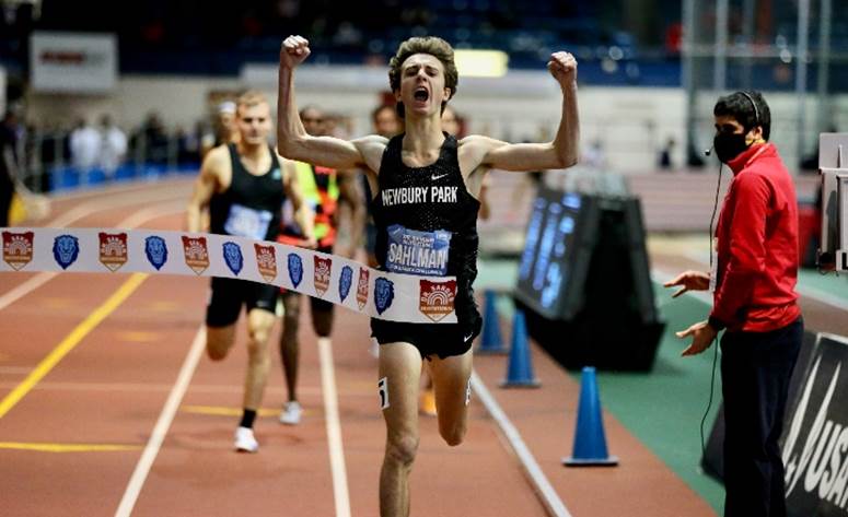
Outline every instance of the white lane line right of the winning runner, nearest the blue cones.
[[571, 514], [568, 512], [568, 508], [566, 508], [562, 500], [559, 498], [559, 494], [554, 490], [554, 486], [550, 484], [550, 481], [548, 481], [545, 472], [542, 471], [542, 468], [536, 462], [536, 458], [533, 457], [533, 453], [531, 453], [526, 444], [524, 444], [521, 433], [512, 425], [507, 413], [503, 412], [500, 404], [498, 404], [498, 401], [491, 396], [476, 372], [472, 373], [472, 388], [474, 388], [474, 391], [477, 393], [477, 397], [479, 397], [483, 406], [486, 407], [486, 410], [491, 418], [495, 419], [501, 433], [503, 433], [503, 436], [507, 438], [507, 442], [509, 442], [515, 456], [518, 456], [548, 514], [555, 517], [571, 517]]

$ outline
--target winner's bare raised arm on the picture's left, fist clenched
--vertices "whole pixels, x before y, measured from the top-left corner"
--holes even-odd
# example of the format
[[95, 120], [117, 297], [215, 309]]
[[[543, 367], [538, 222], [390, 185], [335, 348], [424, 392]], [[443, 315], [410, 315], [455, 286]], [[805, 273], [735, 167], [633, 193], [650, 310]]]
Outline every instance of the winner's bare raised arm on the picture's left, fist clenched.
[[[303, 128], [294, 99], [294, 69], [309, 55], [309, 42], [305, 38], [289, 36], [282, 42], [277, 101], [277, 143], [280, 154], [289, 160], [336, 169], [371, 167], [374, 160], [364, 152], [373, 146], [373, 137], [348, 141], [335, 137], [313, 137]], [[379, 153], [382, 155], [382, 150]], [[379, 158], [376, 164], [379, 167]]]

